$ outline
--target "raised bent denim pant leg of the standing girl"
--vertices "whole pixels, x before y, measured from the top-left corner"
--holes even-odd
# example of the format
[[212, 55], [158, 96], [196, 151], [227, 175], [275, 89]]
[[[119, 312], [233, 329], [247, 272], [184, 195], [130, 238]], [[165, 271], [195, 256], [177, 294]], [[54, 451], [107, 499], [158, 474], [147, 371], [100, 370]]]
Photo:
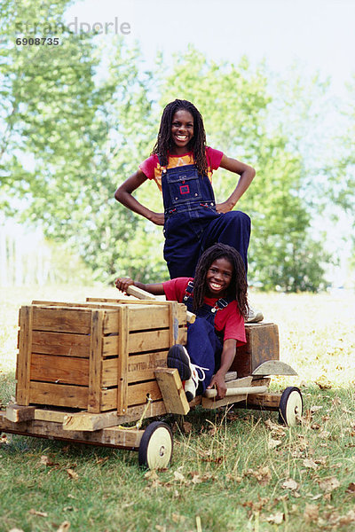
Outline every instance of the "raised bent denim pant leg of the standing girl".
[[250, 218], [241, 211], [230, 211], [219, 215], [209, 223], [201, 239], [202, 251], [217, 242], [233, 246], [241, 254], [245, 270], [248, 270], [248, 245], [250, 239]]

